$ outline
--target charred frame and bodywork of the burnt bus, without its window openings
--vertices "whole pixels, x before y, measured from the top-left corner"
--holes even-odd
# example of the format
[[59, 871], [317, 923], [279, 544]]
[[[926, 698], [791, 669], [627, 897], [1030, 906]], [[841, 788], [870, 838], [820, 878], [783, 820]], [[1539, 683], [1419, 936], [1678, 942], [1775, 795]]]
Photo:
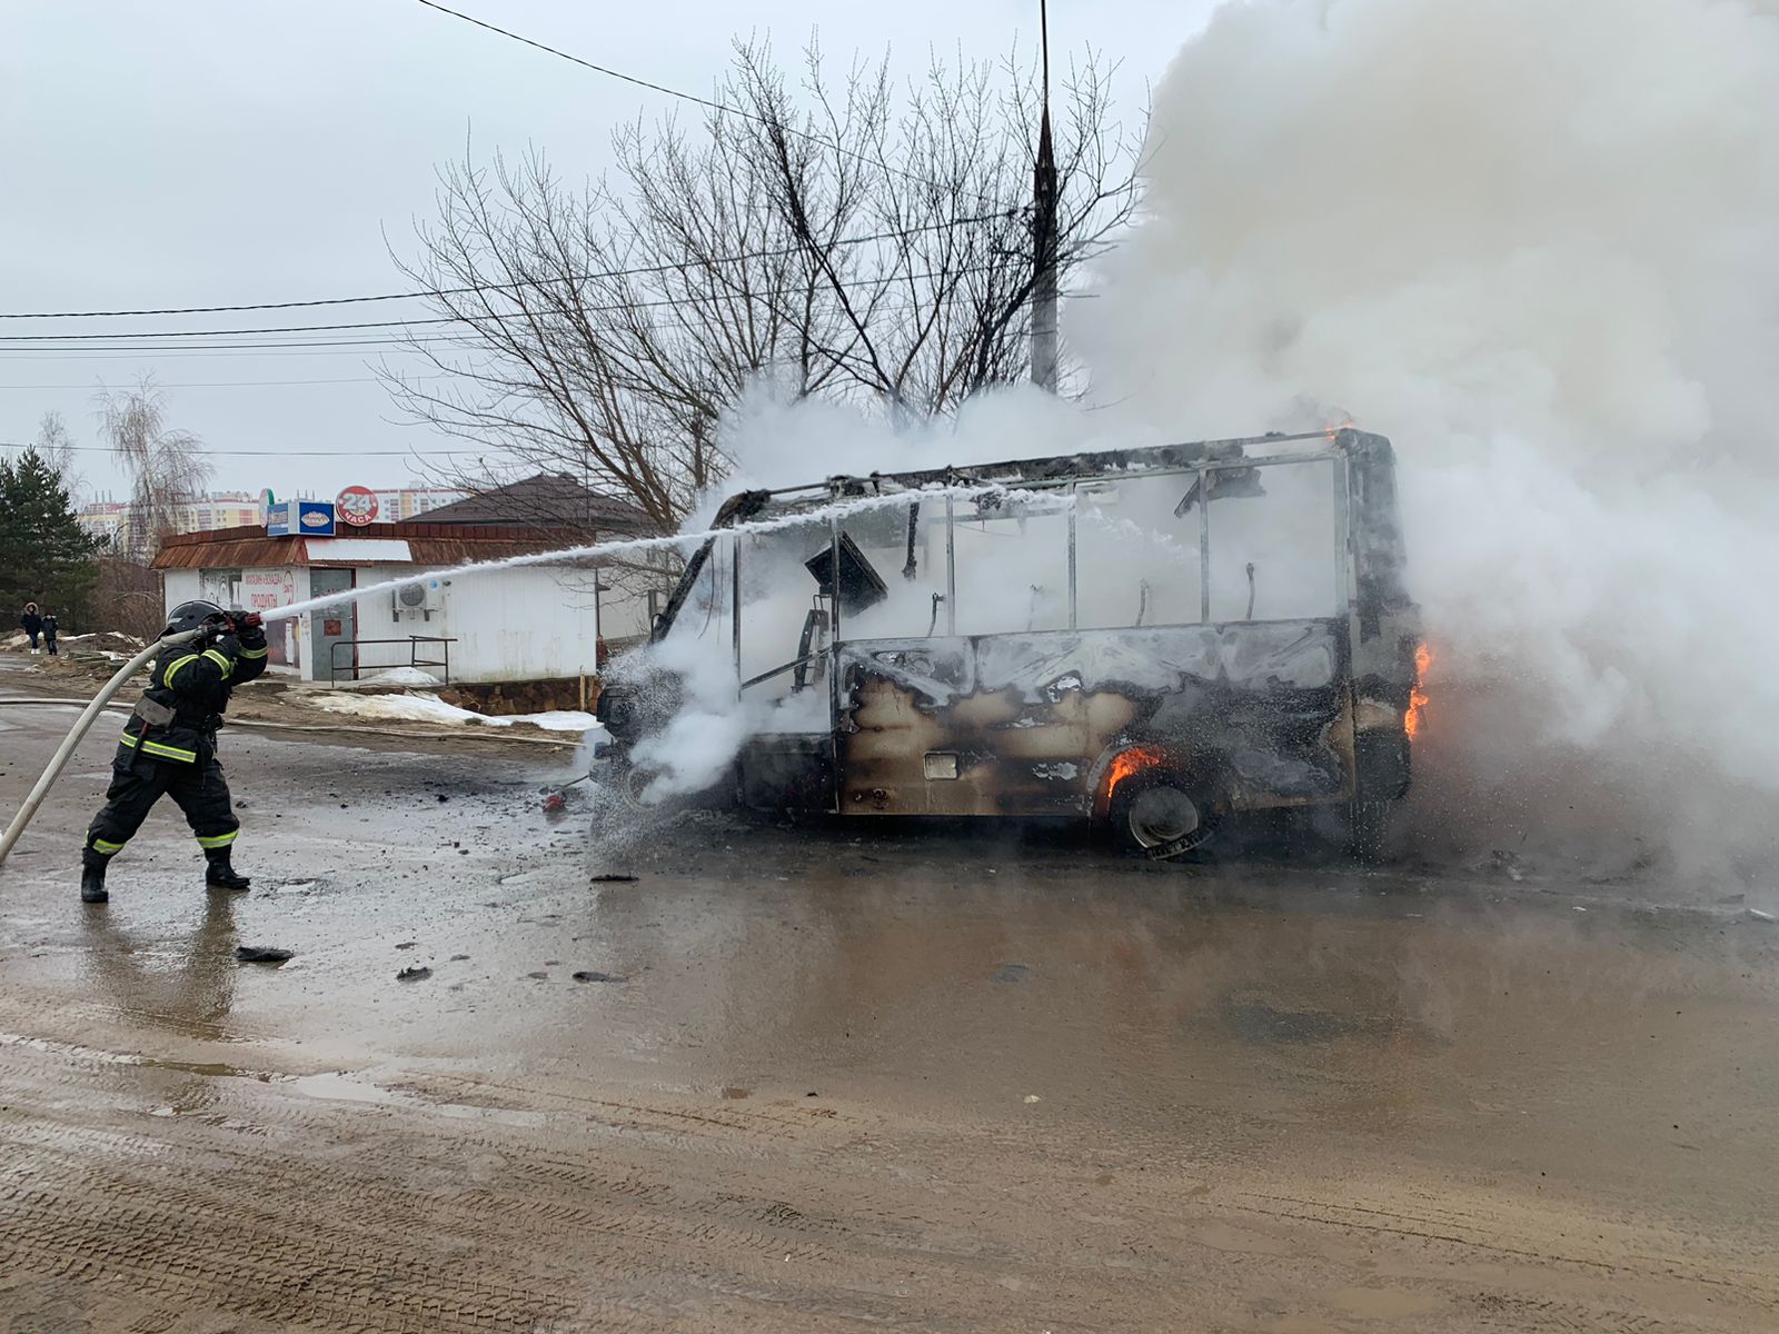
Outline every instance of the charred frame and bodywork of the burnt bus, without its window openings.
[[[1220, 494], [1279, 464], [1332, 462], [1332, 615], [1211, 621], [1211, 519]], [[1080, 628], [1076, 512], [1067, 505], [1067, 628], [959, 635], [957, 487], [1071, 496], [1108, 478], [1190, 478], [1176, 518], [1199, 509], [1199, 621], [1151, 628]], [[973, 468], [833, 477], [786, 491], [729, 498], [715, 526], [820, 510], [861, 496], [946, 489], [946, 596], [932, 633], [845, 639], [841, 587], [857, 580], [841, 521], [808, 566], [833, 623], [797, 658], [744, 679], [744, 617], [733, 615], [737, 688], [786, 672], [829, 694], [824, 733], [753, 736], [733, 772], [744, 806], [841, 816], [1078, 816], [1108, 824], [1151, 856], [1195, 847], [1235, 811], [1322, 808], [1361, 854], [1375, 854], [1384, 816], [1409, 786], [1409, 711], [1418, 688], [1420, 617], [1404, 585], [1404, 546], [1389, 441], [1352, 429], [1256, 436], [1142, 450], [1075, 454]], [[930, 500], [925, 503], [932, 503]], [[665, 639], [717, 544], [729, 551], [726, 596], [742, 605], [740, 541], [715, 537], [688, 560], [653, 639]], [[825, 560], [824, 560], [825, 555]], [[719, 562], [720, 564], [720, 562]], [[865, 575], [870, 575], [865, 564]], [[1249, 567], [1252, 580], [1252, 567]], [[879, 582], [881, 583], [881, 582]], [[852, 592], [859, 592], [854, 589]], [[868, 592], [868, 591], [866, 591]], [[939, 630], [939, 605], [945, 628]], [[1252, 617], [1252, 599], [1249, 601]], [[1115, 642], [1114, 642], [1115, 640]], [[1091, 660], [1144, 663], [1133, 678]], [[811, 662], [820, 660], [818, 672]], [[1162, 679], [1163, 685], [1156, 685]], [[614, 692], [619, 704], [623, 692]], [[632, 719], [607, 717], [623, 749]]]

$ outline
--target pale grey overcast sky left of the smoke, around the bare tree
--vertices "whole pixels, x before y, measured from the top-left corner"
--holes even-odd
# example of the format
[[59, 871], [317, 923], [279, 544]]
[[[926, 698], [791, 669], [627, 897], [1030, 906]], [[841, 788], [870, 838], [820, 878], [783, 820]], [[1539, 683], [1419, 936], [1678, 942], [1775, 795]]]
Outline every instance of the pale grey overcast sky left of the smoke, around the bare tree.
[[[1035, 0], [607, 5], [452, 0], [454, 9], [688, 92], [708, 92], [737, 32], [781, 50], [811, 27], [843, 62], [886, 48], [914, 71], [929, 46], [994, 57], [1035, 39]], [[1053, 0], [1051, 48], [1092, 43], [1140, 105], [1211, 0]], [[135, 309], [402, 290], [436, 164], [546, 149], [564, 176], [607, 165], [616, 123], [696, 108], [603, 78], [415, 0], [55, 0], [0, 18], [0, 311]], [[334, 306], [228, 317], [4, 320], [0, 336], [333, 324], [423, 315]], [[217, 489], [338, 487], [416, 477], [409, 450], [461, 448], [395, 425], [365, 349], [276, 352], [25, 350], [0, 342], [0, 441], [57, 409], [89, 491], [121, 489], [98, 452], [100, 382], [151, 372], [174, 425], [213, 454]], [[155, 345], [155, 340], [144, 340]], [[294, 384], [290, 381], [327, 381]], [[338, 457], [276, 457], [285, 452]], [[244, 452], [244, 454], [229, 454]], [[265, 457], [254, 457], [265, 455]]]

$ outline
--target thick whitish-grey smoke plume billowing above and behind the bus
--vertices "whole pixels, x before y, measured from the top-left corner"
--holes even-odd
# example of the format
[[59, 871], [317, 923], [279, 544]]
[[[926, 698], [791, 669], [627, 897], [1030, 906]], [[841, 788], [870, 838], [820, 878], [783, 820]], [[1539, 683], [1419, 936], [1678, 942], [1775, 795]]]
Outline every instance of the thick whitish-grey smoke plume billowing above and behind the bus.
[[1770, 2], [1231, 4], [1158, 89], [1146, 219], [1073, 333], [1098, 397], [1178, 434], [1397, 441], [1425, 829], [1749, 870], [1775, 221]]

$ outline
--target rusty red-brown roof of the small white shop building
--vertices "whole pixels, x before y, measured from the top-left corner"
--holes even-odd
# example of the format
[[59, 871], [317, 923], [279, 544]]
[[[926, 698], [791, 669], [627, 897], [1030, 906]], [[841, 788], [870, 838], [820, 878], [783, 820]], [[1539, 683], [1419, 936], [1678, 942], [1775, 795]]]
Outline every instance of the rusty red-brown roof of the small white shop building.
[[[342, 560], [311, 555], [308, 537], [267, 537], [265, 528], [217, 528], [215, 532], [174, 534], [155, 555], [155, 569], [267, 569], [276, 566], [466, 566], [475, 560], [503, 560], [532, 551], [559, 551], [576, 546], [580, 537], [564, 528], [521, 528], [486, 523], [381, 523], [347, 530], [342, 537], [366, 541], [402, 541], [407, 560]], [[317, 542], [331, 539], [318, 537]]]

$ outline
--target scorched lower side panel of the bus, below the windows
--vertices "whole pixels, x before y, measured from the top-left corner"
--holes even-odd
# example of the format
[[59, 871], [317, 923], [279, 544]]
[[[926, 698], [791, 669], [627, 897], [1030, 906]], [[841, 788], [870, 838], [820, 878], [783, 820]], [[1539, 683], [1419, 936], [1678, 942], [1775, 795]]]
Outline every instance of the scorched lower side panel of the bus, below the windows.
[[1091, 815], [1103, 759], [1158, 745], [1235, 808], [1352, 795], [1343, 621], [840, 647], [845, 815]]

